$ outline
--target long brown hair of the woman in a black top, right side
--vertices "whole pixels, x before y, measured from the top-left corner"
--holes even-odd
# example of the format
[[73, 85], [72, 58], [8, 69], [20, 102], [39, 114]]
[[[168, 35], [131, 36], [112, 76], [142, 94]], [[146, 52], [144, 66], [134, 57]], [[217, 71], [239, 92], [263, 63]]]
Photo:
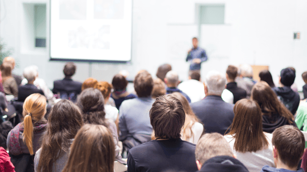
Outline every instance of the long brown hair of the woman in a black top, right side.
[[[253, 86], [251, 99], [259, 104], [263, 115], [271, 117], [272, 114], [278, 113], [279, 116], [285, 117], [289, 124], [293, 123], [293, 114], [278, 100], [267, 82], [260, 81]], [[274, 123], [274, 121], [270, 122]]]

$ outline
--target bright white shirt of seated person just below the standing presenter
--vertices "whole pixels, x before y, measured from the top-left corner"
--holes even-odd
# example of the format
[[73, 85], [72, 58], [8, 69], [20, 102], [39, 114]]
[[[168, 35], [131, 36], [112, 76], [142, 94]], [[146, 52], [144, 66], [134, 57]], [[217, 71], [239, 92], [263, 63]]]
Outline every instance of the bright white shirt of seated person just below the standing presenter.
[[190, 97], [191, 103], [200, 101], [205, 96], [203, 83], [195, 79], [183, 81], [177, 88]]

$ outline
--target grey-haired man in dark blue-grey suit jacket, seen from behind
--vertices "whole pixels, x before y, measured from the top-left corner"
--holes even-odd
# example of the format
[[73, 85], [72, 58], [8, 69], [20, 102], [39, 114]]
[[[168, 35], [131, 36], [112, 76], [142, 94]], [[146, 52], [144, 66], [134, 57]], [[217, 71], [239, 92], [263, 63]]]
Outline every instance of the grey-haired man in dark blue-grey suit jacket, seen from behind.
[[218, 72], [210, 72], [206, 77], [206, 98], [191, 104], [193, 112], [203, 123], [207, 133], [218, 132], [225, 134], [233, 123], [234, 105], [222, 100], [226, 79]]

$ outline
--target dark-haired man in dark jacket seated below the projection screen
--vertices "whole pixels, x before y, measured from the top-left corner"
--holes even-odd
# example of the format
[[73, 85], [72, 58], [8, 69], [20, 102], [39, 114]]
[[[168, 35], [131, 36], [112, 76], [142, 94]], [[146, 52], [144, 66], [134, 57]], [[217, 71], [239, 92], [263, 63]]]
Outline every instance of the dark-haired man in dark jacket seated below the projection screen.
[[81, 93], [82, 83], [71, 79], [75, 73], [76, 66], [73, 62], [67, 62], [63, 69], [65, 78], [54, 81], [54, 94], [60, 94], [61, 99], [76, 101], [76, 96]]

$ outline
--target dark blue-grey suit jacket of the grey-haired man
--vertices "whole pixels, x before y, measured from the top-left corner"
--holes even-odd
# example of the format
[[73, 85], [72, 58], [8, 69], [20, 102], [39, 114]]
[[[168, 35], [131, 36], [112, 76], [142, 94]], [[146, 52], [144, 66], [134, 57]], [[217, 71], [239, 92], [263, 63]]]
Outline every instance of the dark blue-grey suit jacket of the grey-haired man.
[[201, 120], [206, 133], [217, 132], [224, 135], [235, 117], [234, 104], [224, 102], [220, 96], [207, 96], [192, 103], [191, 108]]

